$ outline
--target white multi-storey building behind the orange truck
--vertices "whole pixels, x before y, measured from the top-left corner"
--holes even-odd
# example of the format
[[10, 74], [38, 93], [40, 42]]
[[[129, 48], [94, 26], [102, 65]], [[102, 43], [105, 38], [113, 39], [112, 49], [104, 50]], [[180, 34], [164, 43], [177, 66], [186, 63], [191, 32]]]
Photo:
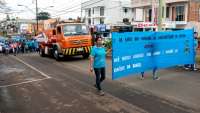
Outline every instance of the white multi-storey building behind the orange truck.
[[88, 25], [113, 25], [133, 18], [131, 0], [89, 0], [81, 9]]

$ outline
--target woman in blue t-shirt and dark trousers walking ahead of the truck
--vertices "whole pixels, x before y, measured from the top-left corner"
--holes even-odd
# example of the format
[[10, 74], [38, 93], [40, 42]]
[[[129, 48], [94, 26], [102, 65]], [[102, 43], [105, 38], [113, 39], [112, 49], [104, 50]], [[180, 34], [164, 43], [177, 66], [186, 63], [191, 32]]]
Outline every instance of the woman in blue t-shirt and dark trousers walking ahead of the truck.
[[104, 95], [104, 92], [101, 88], [101, 83], [106, 78], [106, 49], [103, 47], [103, 42], [101, 37], [95, 39], [95, 46], [92, 47], [90, 53], [90, 71], [95, 72], [96, 75], [96, 84], [95, 87], [98, 89], [98, 92], [101, 96]]

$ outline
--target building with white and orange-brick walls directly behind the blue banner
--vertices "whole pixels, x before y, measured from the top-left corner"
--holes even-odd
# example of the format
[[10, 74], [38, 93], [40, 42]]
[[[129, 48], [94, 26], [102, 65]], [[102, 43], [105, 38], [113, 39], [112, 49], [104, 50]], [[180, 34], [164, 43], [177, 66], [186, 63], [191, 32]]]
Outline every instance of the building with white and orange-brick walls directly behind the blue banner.
[[[195, 28], [200, 31], [200, 0], [163, 0], [163, 23], [165, 29]], [[133, 21], [137, 30], [157, 30], [158, 0], [132, 0]], [[198, 24], [198, 25], [195, 25]]]

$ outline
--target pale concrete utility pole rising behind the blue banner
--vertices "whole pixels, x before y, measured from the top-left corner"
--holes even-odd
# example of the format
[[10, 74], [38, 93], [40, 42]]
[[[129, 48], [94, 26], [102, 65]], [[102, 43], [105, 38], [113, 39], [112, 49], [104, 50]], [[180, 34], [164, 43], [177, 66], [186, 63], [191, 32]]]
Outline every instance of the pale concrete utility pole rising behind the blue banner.
[[158, 31], [162, 31], [163, 20], [166, 17], [165, 0], [159, 0]]

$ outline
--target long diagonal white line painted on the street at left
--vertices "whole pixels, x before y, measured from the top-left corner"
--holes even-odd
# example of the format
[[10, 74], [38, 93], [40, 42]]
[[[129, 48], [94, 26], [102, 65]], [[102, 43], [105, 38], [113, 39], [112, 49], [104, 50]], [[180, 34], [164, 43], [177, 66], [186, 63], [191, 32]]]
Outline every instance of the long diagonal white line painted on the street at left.
[[[13, 57], [13, 56], [12, 56]], [[13, 57], [14, 59], [16, 59], [17, 61], [23, 63], [24, 65], [28, 66], [29, 68], [33, 69], [34, 71], [40, 73], [42, 76], [46, 77], [46, 78], [51, 78], [50, 76], [48, 76], [47, 74], [43, 73], [42, 71], [36, 69], [35, 67], [33, 67], [32, 65], [22, 61], [21, 59], [17, 58], [17, 57]]]

